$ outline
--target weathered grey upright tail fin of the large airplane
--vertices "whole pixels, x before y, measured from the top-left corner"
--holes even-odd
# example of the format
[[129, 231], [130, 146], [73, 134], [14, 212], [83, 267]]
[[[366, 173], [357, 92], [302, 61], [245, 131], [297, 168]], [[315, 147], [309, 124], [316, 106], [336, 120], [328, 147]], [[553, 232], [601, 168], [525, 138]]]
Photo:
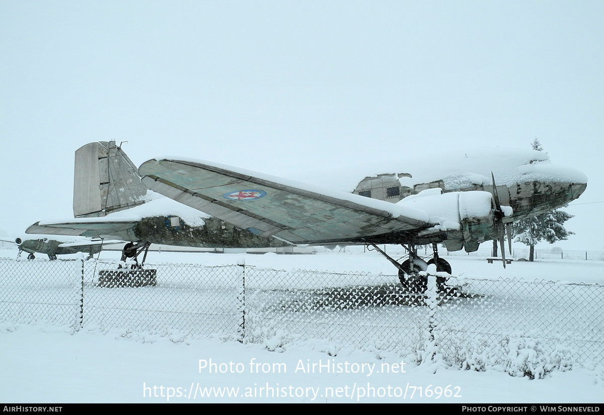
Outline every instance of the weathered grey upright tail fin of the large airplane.
[[144, 203], [147, 188], [138, 169], [115, 141], [76, 150], [74, 217], [98, 217]]

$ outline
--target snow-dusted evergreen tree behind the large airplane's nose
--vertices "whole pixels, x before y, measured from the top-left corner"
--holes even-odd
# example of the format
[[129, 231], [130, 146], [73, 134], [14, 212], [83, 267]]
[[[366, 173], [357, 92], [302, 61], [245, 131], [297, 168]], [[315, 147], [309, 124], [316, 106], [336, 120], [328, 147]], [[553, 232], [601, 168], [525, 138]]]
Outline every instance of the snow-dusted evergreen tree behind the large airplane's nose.
[[[533, 150], [543, 151], [541, 143], [535, 137], [532, 143]], [[564, 228], [564, 222], [573, 217], [565, 211], [556, 209], [542, 213], [527, 219], [518, 220], [512, 225], [512, 236], [515, 242], [524, 243], [529, 246], [528, 260], [535, 260], [535, 245], [545, 240], [554, 243], [558, 240], [566, 240], [573, 235], [571, 231]]]

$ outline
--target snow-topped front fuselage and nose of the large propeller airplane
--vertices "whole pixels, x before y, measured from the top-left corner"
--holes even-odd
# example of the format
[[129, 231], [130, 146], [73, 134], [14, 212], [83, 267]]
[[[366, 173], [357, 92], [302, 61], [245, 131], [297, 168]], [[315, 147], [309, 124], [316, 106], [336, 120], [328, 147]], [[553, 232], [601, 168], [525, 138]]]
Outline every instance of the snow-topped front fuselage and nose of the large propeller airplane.
[[501, 205], [513, 209], [504, 222], [512, 222], [568, 204], [587, 184], [582, 172], [557, 166], [546, 153], [536, 150], [474, 150], [457, 157], [448, 154], [408, 164], [399, 161], [399, 166], [404, 167], [381, 163], [367, 170], [377, 173], [355, 176], [346, 186], [358, 195], [397, 203], [428, 188], [442, 188], [445, 193], [493, 193], [493, 175]]

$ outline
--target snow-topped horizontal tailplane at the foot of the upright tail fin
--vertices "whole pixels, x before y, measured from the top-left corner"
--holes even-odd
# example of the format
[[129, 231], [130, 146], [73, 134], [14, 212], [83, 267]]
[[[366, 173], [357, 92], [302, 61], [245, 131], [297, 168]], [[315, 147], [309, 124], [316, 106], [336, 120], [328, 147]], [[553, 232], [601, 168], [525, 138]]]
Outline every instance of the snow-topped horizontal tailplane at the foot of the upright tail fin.
[[40, 221], [27, 228], [25, 233], [136, 240], [133, 230], [137, 224], [137, 220], [106, 220], [104, 218]]

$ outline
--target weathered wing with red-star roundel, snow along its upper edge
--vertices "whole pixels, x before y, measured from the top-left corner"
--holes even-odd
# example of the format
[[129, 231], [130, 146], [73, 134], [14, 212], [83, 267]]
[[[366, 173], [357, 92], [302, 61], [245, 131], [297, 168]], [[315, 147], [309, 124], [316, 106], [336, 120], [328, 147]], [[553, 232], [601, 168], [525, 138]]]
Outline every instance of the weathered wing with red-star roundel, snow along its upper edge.
[[152, 159], [153, 191], [254, 234], [295, 244], [364, 242], [429, 227], [425, 211], [209, 161]]

